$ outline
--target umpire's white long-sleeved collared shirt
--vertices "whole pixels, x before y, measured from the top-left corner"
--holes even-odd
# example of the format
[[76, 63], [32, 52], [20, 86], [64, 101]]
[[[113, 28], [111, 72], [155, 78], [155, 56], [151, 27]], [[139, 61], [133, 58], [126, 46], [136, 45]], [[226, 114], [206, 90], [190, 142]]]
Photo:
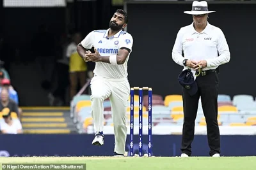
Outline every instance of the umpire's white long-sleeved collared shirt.
[[[192, 23], [179, 30], [173, 46], [172, 59], [180, 66], [184, 66], [182, 63], [184, 59], [206, 60], [207, 67], [203, 69], [205, 71], [216, 69], [221, 64], [229, 62], [230, 52], [220, 28], [207, 22], [204, 31], [198, 33]], [[184, 66], [184, 69], [188, 67]]]

